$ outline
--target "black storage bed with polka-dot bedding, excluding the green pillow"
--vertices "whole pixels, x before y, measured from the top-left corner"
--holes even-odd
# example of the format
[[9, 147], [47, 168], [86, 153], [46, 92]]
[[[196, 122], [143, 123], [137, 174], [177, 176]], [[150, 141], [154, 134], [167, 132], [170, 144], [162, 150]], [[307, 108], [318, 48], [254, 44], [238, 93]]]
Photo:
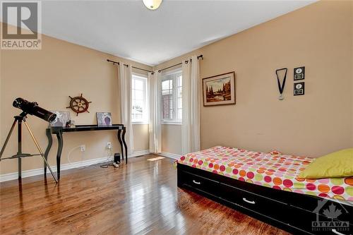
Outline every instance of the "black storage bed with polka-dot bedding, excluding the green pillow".
[[297, 177], [312, 161], [216, 146], [177, 160], [178, 186], [293, 234], [353, 234], [353, 177]]

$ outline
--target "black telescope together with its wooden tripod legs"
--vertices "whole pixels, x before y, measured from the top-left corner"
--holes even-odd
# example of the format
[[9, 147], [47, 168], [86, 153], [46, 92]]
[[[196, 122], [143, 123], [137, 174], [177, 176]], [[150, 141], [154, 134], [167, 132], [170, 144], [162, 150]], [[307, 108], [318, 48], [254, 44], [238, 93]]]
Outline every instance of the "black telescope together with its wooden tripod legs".
[[[53, 176], [54, 181], [57, 183], [58, 181], [56, 180], [56, 177], [54, 176], [54, 172], [52, 171], [52, 168], [49, 166], [46, 157], [44, 156], [44, 153], [42, 151], [42, 149], [40, 148], [40, 145], [37, 141], [37, 139], [35, 138], [35, 135], [33, 135], [32, 130], [30, 129], [30, 126], [28, 126], [27, 123], [27, 114], [33, 115], [33, 116], [37, 116], [40, 119], [43, 119], [44, 121], [47, 122], [52, 122], [56, 119], [56, 114], [53, 114], [50, 111], [47, 111], [46, 109], [43, 109], [41, 107], [39, 107], [37, 102], [29, 102], [28, 100], [25, 100], [23, 98], [18, 97], [16, 100], [13, 101], [12, 103], [13, 107], [16, 107], [18, 109], [21, 109], [23, 112], [20, 113], [18, 116], [14, 116], [14, 121], [12, 123], [11, 129], [8, 132], [8, 135], [6, 137], [5, 143], [3, 145], [3, 147], [1, 148], [0, 151], [0, 161], [4, 160], [4, 159], [18, 159], [18, 179], [22, 178], [21, 175], [21, 159], [24, 157], [32, 157], [32, 156], [37, 156], [40, 155], [42, 156], [42, 159], [44, 161], [44, 167], [48, 167], [50, 173]], [[11, 157], [4, 157], [1, 158], [2, 155], [5, 152], [5, 148], [6, 145], [8, 143], [8, 140], [10, 140], [11, 138], [11, 134], [13, 132], [13, 129], [16, 126], [16, 123], [18, 124], [18, 138], [17, 138], [17, 153], [16, 155], [12, 155]], [[33, 143], [35, 143], [35, 146], [37, 147], [37, 150], [40, 152], [39, 154], [29, 154], [29, 153], [23, 153], [22, 152], [22, 124], [25, 124], [25, 127], [27, 128], [28, 132], [30, 133], [30, 137], [33, 140]]]

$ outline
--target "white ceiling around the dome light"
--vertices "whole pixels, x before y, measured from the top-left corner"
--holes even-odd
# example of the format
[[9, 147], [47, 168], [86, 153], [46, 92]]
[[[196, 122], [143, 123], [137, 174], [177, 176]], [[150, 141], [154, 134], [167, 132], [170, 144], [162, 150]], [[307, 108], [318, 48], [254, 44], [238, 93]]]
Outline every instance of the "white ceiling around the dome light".
[[42, 32], [154, 66], [312, 2], [42, 1]]

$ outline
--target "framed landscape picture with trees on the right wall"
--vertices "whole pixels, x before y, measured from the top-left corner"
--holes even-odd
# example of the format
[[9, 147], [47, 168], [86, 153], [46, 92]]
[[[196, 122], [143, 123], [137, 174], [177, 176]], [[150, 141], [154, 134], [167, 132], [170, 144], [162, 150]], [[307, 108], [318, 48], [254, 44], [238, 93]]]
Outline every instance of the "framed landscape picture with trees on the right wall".
[[235, 104], [235, 73], [203, 78], [203, 106]]

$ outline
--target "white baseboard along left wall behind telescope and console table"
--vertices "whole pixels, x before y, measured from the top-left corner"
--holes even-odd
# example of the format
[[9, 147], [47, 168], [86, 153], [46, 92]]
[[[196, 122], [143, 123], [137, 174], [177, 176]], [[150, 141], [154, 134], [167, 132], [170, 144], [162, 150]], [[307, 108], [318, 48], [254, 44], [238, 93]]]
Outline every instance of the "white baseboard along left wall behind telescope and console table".
[[[88, 159], [88, 160], [81, 161], [81, 162], [71, 162], [71, 163], [61, 164], [60, 171], [64, 171], [66, 169], [78, 168], [78, 167], [87, 167], [92, 164], [106, 162], [107, 159], [108, 159], [108, 157], [100, 157], [100, 158], [95, 158], [95, 159]], [[109, 159], [112, 159], [112, 158], [109, 158]], [[56, 166], [52, 166], [52, 170], [54, 172], [56, 172], [56, 170], [57, 170]], [[47, 170], [47, 173], [50, 173], [50, 171]], [[38, 168], [38, 169], [30, 169], [27, 171], [22, 171], [22, 178], [27, 178], [30, 176], [37, 176], [40, 174], [44, 174], [44, 167]], [[13, 179], [18, 179], [18, 171], [0, 175], [0, 182], [11, 181]]]

